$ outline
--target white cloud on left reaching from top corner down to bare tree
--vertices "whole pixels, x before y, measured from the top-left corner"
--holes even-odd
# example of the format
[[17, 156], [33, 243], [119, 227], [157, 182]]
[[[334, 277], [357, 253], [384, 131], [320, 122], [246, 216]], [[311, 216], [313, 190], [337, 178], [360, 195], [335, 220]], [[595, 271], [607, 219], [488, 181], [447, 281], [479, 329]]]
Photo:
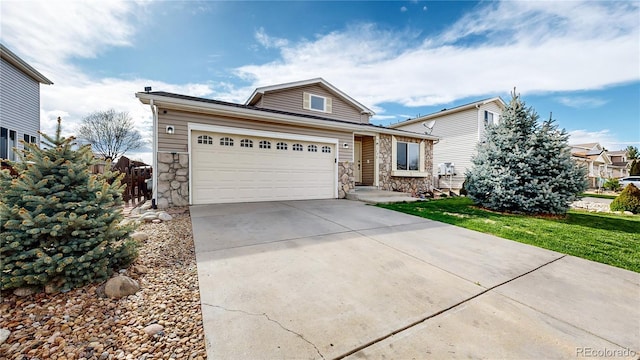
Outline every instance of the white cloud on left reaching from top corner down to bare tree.
[[[128, 112], [150, 144], [151, 112], [134, 97], [135, 92], [152, 86], [193, 96], [216, 94], [213, 84], [96, 78], [72, 65], [74, 59], [99, 57], [112, 47], [132, 46], [136, 29], [131, 24], [146, 21], [145, 3], [8, 0], [1, 6], [3, 43], [54, 83], [40, 86], [41, 130], [47, 134], [55, 133], [58, 116], [63, 119], [63, 136], [69, 136], [85, 115], [114, 108]], [[220, 88], [225, 89], [224, 84]]]

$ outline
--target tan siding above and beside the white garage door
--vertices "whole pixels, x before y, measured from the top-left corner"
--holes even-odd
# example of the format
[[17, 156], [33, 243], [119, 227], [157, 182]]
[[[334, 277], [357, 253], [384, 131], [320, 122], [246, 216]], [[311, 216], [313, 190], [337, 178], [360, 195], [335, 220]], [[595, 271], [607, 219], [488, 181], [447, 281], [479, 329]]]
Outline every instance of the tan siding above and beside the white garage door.
[[[322, 130], [306, 128], [301, 126], [291, 126], [285, 124], [275, 124], [269, 122], [246, 120], [241, 118], [230, 118], [222, 116], [203, 115], [185, 111], [158, 109], [158, 150], [163, 152], [187, 152], [188, 151], [188, 123], [198, 123], [205, 125], [217, 125], [237, 127], [251, 130], [275, 131], [288, 134], [301, 134], [307, 136], [318, 136], [336, 138], [339, 141], [338, 161], [351, 161], [353, 157], [353, 134], [350, 132], [340, 132], [332, 130]], [[165, 132], [167, 125], [173, 125], [175, 132], [171, 135]], [[347, 143], [348, 148], [343, 148], [342, 144]]]

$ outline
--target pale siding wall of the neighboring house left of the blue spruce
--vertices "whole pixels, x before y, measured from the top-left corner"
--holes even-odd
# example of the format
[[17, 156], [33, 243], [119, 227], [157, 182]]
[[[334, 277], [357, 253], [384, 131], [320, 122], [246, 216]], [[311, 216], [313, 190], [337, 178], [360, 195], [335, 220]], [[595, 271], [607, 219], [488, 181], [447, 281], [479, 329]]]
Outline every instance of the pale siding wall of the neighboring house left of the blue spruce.
[[[499, 113], [499, 112], [498, 112]], [[433, 175], [438, 175], [438, 164], [452, 162], [458, 175], [464, 176], [471, 167], [471, 157], [478, 143], [478, 110], [469, 109], [436, 119], [432, 135], [440, 137], [433, 146]], [[398, 129], [424, 132], [421, 122], [398, 127]]]

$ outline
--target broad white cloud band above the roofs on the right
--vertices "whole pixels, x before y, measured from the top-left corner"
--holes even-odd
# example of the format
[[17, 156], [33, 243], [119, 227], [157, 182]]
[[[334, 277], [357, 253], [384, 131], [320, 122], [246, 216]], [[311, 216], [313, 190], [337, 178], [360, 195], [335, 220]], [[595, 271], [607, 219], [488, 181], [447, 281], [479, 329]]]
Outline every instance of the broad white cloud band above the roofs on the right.
[[289, 42], [280, 58], [236, 73], [256, 86], [321, 76], [368, 107], [436, 105], [514, 86], [523, 94], [601, 89], [640, 80], [639, 13], [637, 2], [484, 3], [418, 46], [407, 46], [413, 34], [359, 24]]

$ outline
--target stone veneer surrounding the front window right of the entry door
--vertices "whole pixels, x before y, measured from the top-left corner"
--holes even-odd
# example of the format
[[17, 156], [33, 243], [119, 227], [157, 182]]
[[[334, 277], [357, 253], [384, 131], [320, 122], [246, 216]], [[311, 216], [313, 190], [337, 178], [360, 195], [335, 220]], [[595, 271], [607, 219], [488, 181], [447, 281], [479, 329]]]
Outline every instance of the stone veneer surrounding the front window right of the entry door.
[[[397, 141], [402, 142], [420, 142], [420, 139], [396, 136]], [[433, 190], [431, 169], [433, 164], [433, 141], [425, 140], [424, 147], [424, 168], [429, 174], [427, 177], [403, 177], [391, 176], [392, 171], [392, 141], [391, 135], [380, 134], [380, 169], [379, 169], [379, 187], [387, 191], [400, 191], [417, 196]]]

